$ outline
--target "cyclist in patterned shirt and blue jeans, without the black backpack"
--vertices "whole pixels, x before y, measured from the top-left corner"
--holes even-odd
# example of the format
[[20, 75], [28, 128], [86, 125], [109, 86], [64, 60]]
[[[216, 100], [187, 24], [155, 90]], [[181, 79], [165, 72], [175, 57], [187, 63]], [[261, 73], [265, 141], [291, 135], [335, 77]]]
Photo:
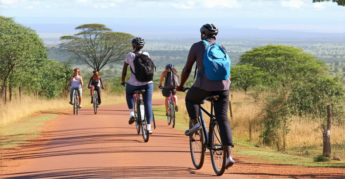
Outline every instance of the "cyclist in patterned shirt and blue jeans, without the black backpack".
[[[121, 85], [125, 84], [125, 78], [127, 75], [127, 67], [130, 66], [130, 69], [132, 71], [129, 80], [126, 85], [126, 100], [127, 105], [130, 112], [130, 117], [128, 124], [133, 124], [135, 122], [135, 116], [134, 116], [134, 98], [133, 94], [137, 90], [145, 90], [145, 93], [142, 94], [142, 98], [144, 100], [144, 106], [145, 106], [145, 115], [147, 119], [147, 130], [149, 134], [152, 134], [151, 130], [151, 120], [153, 119], [153, 113], [152, 113], [152, 93], [153, 93], [153, 82], [147, 81], [147, 82], [140, 82], [138, 81], [136, 75], [134, 74], [136, 72], [134, 60], [136, 58], [136, 55], [144, 54], [149, 57], [149, 54], [147, 52], [142, 52], [141, 49], [144, 47], [145, 40], [141, 39], [139, 37], [132, 40], [132, 49], [134, 52], [129, 52], [125, 58], [125, 64], [122, 69], [122, 78], [121, 78]], [[139, 74], [138, 74], [139, 75]]]

